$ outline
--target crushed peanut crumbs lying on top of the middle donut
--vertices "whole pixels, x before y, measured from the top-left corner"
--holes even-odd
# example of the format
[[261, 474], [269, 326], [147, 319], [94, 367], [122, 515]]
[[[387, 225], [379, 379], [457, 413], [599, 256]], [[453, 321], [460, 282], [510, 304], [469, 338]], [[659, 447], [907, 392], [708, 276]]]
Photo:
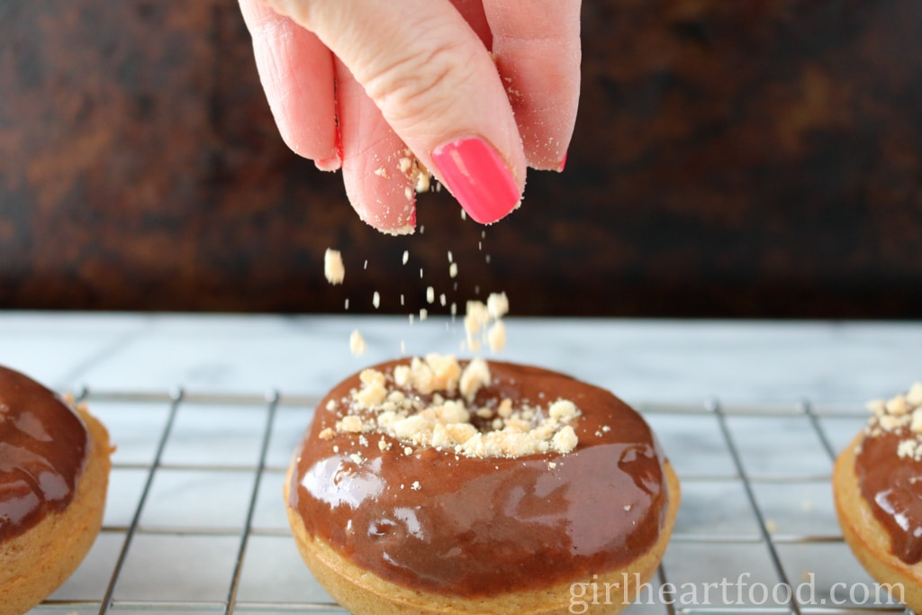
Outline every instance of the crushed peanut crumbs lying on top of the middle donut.
[[[516, 408], [509, 398], [479, 406], [480, 389], [491, 384], [490, 365], [480, 358], [462, 369], [453, 355], [430, 354], [396, 365], [390, 374], [364, 370], [359, 379], [335, 432], [379, 432], [381, 450], [390, 448], [385, 436], [396, 439], [404, 455], [412, 455], [414, 446], [468, 457], [566, 455], [579, 443], [571, 423], [581, 413], [568, 399], [546, 407], [524, 402]], [[332, 438], [327, 430], [321, 437]]]

